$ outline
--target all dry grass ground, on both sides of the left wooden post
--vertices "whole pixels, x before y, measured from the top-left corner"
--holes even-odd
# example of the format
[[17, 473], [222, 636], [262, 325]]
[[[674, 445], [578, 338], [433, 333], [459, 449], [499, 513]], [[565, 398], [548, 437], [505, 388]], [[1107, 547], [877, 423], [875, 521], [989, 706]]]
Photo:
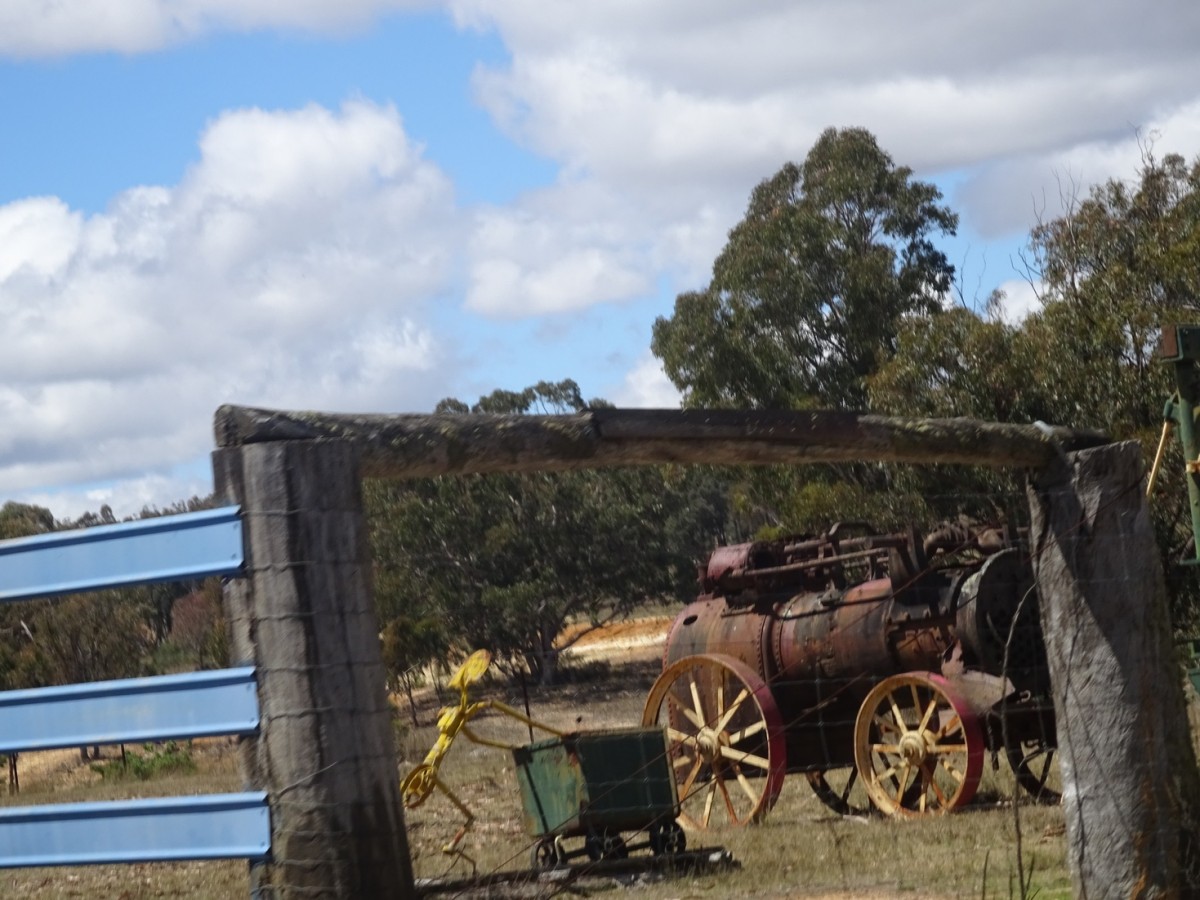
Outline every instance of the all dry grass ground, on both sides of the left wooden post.
[[[594, 730], [635, 725], [646, 694], [658, 673], [653, 655], [612, 668], [583, 664], [589, 680], [530, 691], [535, 719], [565, 730]], [[478, 698], [500, 700], [523, 707], [520, 689], [490, 683]], [[438, 701], [425, 691], [419, 728], [406, 728], [400, 739], [401, 774], [420, 762], [437, 732]], [[397, 722], [408, 720], [407, 709]], [[524, 743], [528, 731], [518, 722], [488, 713], [476, 722], [488, 737]], [[101, 784], [98, 776], [67, 754], [64, 766], [34, 775], [34, 755], [23, 757], [19, 803], [58, 803], [113, 799], [128, 796], [212, 793], [238, 791], [233, 745], [199, 745], [194, 775], [137, 784]], [[528, 866], [533, 836], [521, 817], [512, 758], [509, 754], [470, 744], [460, 738], [442, 774], [476, 815], [462, 847], [487, 874]], [[1007, 797], [1007, 772], [985, 775], [982, 793]], [[1070, 895], [1064, 866], [1062, 814], [1057, 808], [1022, 806], [1025, 868], [1033, 870], [1039, 900]], [[407, 812], [414, 866], [419, 876], [466, 876], [470, 866], [440, 852], [461, 823], [457, 810], [434, 793], [419, 809]], [[635, 880], [625, 889], [644, 900], [668, 898], [756, 896], [782, 898], [1009, 898], [1016, 896], [1016, 841], [1013, 809], [997, 802], [942, 818], [900, 822], [883, 818], [853, 820], [830, 814], [812, 796], [802, 776], [790, 776], [779, 804], [767, 821], [754, 828], [715, 829], [689, 834], [689, 846], [724, 846], [740, 868], [718, 875], [671, 880]], [[607, 894], [617, 882], [589, 886]], [[548, 895], [551, 888], [546, 888]], [[248, 894], [247, 866], [242, 862], [157, 865], [86, 866], [17, 870], [0, 874], [0, 895], [38, 898], [196, 898], [223, 900]], [[503, 895], [493, 892], [492, 895]]]

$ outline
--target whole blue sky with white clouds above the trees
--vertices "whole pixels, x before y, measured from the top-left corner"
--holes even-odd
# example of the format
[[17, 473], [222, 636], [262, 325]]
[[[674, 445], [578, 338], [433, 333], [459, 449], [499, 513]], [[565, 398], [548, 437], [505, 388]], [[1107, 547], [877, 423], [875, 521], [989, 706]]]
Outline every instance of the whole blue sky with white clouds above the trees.
[[1200, 154], [1198, 41], [1195, 0], [4, 0], [0, 503], [204, 496], [222, 403], [677, 406], [654, 319], [830, 126], [1016, 320], [1039, 218]]

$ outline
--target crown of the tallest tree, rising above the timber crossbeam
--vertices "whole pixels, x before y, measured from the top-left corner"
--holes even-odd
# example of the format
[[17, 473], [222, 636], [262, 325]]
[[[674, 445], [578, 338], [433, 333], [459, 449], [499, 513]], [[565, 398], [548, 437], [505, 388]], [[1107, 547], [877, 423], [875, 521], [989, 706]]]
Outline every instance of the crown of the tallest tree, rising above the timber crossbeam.
[[954, 269], [930, 236], [958, 217], [862, 128], [827, 130], [758, 185], [713, 265], [654, 323], [686, 406], [862, 408], [899, 324], [934, 313]]

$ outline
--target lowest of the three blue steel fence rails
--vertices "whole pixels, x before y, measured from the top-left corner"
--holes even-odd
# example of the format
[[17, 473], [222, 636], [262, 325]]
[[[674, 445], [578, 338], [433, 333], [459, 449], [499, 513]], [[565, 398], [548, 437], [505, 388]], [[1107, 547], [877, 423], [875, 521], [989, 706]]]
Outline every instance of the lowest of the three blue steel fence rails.
[[0, 809], [0, 868], [265, 859], [266, 794], [227, 793]]

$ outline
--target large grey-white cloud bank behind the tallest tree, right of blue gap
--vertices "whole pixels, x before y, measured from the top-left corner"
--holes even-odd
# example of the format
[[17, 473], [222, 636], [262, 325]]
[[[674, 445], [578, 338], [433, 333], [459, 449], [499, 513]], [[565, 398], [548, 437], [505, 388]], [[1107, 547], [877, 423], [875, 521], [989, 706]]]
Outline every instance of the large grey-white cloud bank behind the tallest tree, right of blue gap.
[[984, 238], [1056, 215], [1063, 173], [1132, 175], [1139, 127], [1200, 151], [1200, 6], [1176, 0], [450, 8], [511, 52], [476, 70], [480, 102], [563, 170], [475, 233], [469, 304], [497, 317], [702, 284], [751, 187], [828, 126], [868, 127], [919, 176], [959, 173], [949, 200]]

